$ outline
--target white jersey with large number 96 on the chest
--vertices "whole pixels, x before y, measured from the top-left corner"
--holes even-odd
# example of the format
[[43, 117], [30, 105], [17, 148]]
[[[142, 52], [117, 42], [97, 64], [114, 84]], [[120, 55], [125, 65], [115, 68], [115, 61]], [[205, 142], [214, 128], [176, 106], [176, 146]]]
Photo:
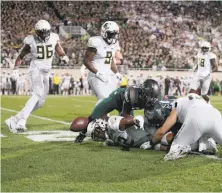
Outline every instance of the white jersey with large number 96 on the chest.
[[44, 70], [51, 69], [55, 46], [58, 41], [59, 36], [55, 33], [50, 33], [50, 38], [47, 42], [40, 42], [36, 36], [28, 35], [24, 39], [24, 44], [31, 47], [32, 60], [30, 67]]

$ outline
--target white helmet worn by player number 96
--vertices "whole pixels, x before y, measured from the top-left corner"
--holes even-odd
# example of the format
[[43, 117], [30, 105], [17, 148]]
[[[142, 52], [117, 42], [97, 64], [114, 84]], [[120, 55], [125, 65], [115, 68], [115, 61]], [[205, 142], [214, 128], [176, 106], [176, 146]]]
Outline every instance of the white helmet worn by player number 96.
[[40, 41], [46, 42], [49, 40], [50, 30], [51, 26], [46, 20], [41, 19], [35, 24], [35, 32]]

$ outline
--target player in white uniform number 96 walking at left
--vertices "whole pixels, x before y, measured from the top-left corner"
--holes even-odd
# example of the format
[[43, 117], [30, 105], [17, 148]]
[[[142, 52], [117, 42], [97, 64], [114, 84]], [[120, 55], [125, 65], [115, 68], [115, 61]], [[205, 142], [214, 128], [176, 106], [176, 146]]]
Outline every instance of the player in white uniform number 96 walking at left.
[[15, 61], [14, 70], [17, 70], [24, 56], [31, 53], [32, 60], [28, 74], [32, 97], [18, 114], [5, 121], [13, 133], [27, 130], [26, 120], [29, 115], [45, 103], [49, 91], [49, 71], [54, 53], [57, 52], [61, 60], [67, 63], [69, 61], [59, 43], [59, 36], [51, 32], [48, 21], [39, 20], [35, 25], [35, 33], [24, 39], [24, 46]]

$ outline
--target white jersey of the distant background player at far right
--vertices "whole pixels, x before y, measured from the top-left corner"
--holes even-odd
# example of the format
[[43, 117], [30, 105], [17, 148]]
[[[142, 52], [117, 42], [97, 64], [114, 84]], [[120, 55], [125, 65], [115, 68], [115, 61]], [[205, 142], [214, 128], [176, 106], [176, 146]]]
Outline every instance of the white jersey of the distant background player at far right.
[[211, 73], [211, 59], [216, 59], [216, 55], [212, 52], [207, 52], [205, 54], [199, 52], [197, 54], [198, 59], [198, 70], [197, 76], [198, 77], [205, 77]]

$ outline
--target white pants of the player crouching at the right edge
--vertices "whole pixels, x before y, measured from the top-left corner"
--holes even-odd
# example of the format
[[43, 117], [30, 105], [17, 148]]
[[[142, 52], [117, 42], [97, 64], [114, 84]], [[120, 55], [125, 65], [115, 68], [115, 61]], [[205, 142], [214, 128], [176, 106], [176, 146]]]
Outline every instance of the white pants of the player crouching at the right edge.
[[203, 135], [212, 137], [222, 145], [221, 114], [211, 106], [191, 108], [173, 144], [193, 146]]

